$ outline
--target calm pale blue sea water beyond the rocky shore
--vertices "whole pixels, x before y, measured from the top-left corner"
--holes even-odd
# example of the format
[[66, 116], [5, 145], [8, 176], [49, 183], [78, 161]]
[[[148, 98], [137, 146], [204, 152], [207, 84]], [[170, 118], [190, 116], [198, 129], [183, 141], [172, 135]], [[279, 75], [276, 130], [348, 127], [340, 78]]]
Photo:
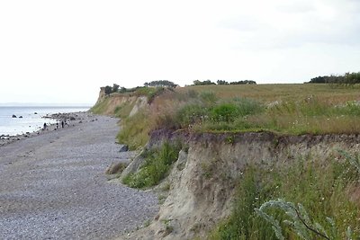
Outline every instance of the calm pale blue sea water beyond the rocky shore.
[[[0, 136], [15, 136], [41, 129], [43, 124], [55, 123], [56, 120], [42, 117], [53, 113], [87, 111], [89, 107], [3, 107], [0, 106]], [[35, 114], [35, 112], [37, 114]], [[13, 118], [16, 115], [17, 118]], [[23, 118], [19, 118], [23, 116]]]

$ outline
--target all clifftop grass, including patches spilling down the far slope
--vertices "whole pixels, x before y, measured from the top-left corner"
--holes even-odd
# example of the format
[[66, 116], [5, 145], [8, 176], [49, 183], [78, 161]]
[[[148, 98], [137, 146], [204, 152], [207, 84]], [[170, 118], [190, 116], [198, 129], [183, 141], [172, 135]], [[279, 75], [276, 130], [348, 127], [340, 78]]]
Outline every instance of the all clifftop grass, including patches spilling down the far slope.
[[[92, 111], [108, 111], [120, 117], [121, 132], [117, 139], [130, 149], [143, 147], [154, 129], [356, 134], [360, 133], [359, 88], [359, 85], [334, 88], [329, 84], [249, 84], [187, 86], [165, 91], [141, 87], [134, 93], [112, 94]], [[151, 104], [129, 117], [134, 100], [121, 102], [120, 98], [130, 95], [145, 95]]]

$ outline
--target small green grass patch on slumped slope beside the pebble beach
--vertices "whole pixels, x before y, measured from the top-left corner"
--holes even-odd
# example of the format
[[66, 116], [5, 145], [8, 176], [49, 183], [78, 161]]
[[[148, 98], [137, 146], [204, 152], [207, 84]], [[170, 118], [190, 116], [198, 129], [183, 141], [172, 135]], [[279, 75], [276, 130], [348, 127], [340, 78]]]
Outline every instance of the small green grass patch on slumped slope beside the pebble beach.
[[180, 144], [164, 142], [160, 147], [142, 153], [145, 164], [137, 173], [130, 173], [122, 180], [131, 188], [144, 189], [157, 185], [169, 173], [172, 164], [177, 160]]

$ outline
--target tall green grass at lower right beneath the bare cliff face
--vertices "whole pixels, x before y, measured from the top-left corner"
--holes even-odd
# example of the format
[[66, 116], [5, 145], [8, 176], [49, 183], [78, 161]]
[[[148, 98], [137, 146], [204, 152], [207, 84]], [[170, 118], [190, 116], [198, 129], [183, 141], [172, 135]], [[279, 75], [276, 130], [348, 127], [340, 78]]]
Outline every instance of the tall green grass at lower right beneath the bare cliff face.
[[[357, 194], [360, 173], [348, 160], [328, 159], [326, 166], [321, 162], [310, 157], [284, 169], [248, 166], [238, 181], [231, 216], [211, 232], [210, 239], [277, 239], [272, 225], [257, 215], [255, 209], [278, 198], [301, 203], [311, 221], [328, 232], [332, 227], [327, 218], [332, 218], [337, 229], [334, 239], [346, 239], [347, 227], [353, 229], [353, 239], [357, 239], [360, 204], [352, 200], [352, 195]], [[271, 209], [268, 214], [279, 220], [285, 239], [302, 239], [284, 224], [283, 211]], [[310, 236], [316, 238], [311, 233]]]

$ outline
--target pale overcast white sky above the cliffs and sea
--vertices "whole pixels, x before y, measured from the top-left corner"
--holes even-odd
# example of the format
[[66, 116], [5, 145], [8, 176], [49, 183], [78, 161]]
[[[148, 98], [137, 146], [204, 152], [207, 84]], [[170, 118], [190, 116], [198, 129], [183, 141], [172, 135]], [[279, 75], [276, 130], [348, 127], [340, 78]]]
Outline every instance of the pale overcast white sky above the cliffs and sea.
[[0, 0], [0, 103], [92, 104], [114, 83], [358, 71], [358, 0]]

